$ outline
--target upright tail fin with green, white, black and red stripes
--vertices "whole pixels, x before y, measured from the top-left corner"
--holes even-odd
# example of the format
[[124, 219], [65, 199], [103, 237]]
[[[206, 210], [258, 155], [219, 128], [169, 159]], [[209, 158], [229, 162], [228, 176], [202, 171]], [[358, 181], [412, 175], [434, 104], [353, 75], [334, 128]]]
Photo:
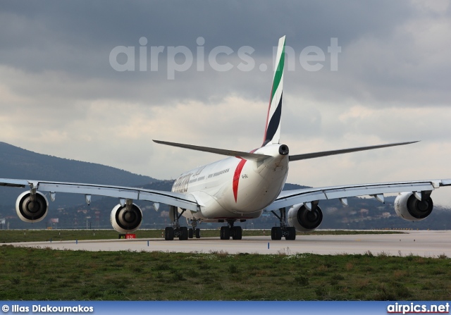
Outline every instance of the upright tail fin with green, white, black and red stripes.
[[280, 116], [282, 115], [283, 65], [285, 63], [285, 36], [280, 37], [277, 48], [276, 68], [274, 69], [273, 87], [269, 98], [268, 117], [262, 147], [266, 144], [279, 143]]

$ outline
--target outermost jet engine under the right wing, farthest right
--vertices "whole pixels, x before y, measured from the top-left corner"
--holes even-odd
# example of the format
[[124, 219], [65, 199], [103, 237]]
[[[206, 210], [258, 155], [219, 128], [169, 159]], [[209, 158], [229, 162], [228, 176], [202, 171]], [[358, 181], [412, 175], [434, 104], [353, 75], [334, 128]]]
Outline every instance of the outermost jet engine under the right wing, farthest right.
[[421, 201], [416, 199], [413, 192], [402, 192], [398, 194], [395, 199], [395, 212], [397, 216], [407, 221], [423, 220], [431, 214], [434, 206], [431, 196], [424, 197], [423, 199]]

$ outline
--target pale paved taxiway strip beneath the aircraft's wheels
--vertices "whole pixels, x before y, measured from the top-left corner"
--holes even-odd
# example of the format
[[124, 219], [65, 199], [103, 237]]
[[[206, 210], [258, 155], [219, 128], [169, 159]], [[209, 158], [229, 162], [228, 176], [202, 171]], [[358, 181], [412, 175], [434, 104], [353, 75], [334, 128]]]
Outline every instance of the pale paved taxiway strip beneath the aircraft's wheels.
[[229, 254], [388, 254], [422, 257], [451, 257], [451, 231], [408, 231], [402, 234], [297, 235], [296, 240], [271, 240], [269, 236], [243, 237], [242, 240], [219, 240], [205, 237], [185, 241], [159, 239], [87, 240], [63, 242], [10, 243], [21, 247], [88, 251], [146, 252], [228, 252]]

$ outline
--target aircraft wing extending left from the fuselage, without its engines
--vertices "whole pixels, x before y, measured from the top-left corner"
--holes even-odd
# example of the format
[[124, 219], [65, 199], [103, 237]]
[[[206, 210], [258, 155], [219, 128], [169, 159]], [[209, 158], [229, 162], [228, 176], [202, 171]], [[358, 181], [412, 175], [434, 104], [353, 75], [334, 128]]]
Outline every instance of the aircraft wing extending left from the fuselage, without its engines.
[[[68, 192], [73, 194], [98, 195], [105, 197], [116, 197], [119, 199], [145, 200], [171, 206], [178, 206], [183, 209], [198, 211], [196, 199], [190, 194], [180, 194], [177, 192], [164, 192], [160, 190], [145, 190], [136, 187], [119, 187], [108, 185], [61, 183], [44, 180], [18, 180], [0, 178], [0, 186], [23, 187], [30, 190], [50, 192]], [[90, 199], [90, 198], [89, 198]], [[89, 200], [86, 198], [87, 202]], [[89, 203], [89, 202], [88, 202]]]

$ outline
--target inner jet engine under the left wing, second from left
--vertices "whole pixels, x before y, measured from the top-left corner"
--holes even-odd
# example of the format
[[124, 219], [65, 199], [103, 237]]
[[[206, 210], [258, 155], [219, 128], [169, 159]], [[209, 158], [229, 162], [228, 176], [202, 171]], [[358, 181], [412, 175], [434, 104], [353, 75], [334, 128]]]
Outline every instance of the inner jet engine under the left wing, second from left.
[[110, 221], [119, 233], [132, 233], [141, 226], [142, 211], [136, 204], [132, 204], [130, 210], [127, 210], [126, 205], [118, 204], [111, 210]]

